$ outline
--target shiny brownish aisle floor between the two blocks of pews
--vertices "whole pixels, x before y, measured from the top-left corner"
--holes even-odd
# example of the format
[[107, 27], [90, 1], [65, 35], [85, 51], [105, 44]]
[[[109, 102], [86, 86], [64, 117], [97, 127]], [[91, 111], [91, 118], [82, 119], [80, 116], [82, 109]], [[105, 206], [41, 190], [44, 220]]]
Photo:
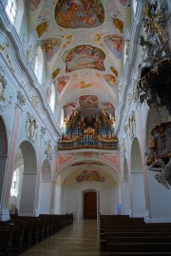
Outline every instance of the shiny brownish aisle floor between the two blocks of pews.
[[99, 223], [85, 220], [67, 226], [22, 256], [99, 256]]

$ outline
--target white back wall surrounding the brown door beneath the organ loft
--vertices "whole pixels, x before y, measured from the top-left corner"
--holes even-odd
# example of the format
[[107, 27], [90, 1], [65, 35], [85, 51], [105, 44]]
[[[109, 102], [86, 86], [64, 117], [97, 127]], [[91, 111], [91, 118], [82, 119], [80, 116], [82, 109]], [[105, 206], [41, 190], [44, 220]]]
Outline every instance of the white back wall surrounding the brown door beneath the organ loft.
[[109, 183], [74, 183], [70, 187], [62, 187], [62, 213], [76, 212], [77, 219], [84, 218], [84, 198], [85, 190], [96, 190], [99, 192], [99, 212], [102, 214], [116, 214], [116, 205], [119, 204], [118, 187]]

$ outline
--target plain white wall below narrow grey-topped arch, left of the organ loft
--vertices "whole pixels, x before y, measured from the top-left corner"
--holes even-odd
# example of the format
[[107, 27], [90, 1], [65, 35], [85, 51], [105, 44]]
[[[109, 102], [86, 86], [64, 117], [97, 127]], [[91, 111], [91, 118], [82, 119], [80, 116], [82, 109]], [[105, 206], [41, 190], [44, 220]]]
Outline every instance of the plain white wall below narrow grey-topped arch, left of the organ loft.
[[51, 213], [51, 186], [52, 182], [43, 181], [40, 189], [40, 213]]

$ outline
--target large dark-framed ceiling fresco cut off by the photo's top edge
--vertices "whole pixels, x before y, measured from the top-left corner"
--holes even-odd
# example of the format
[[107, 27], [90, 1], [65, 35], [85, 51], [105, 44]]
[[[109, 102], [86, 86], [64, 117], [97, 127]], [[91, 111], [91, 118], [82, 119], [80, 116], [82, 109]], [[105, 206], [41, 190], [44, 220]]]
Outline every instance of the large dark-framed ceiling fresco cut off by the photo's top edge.
[[100, 0], [60, 0], [54, 15], [56, 23], [65, 29], [96, 28], [104, 23]]

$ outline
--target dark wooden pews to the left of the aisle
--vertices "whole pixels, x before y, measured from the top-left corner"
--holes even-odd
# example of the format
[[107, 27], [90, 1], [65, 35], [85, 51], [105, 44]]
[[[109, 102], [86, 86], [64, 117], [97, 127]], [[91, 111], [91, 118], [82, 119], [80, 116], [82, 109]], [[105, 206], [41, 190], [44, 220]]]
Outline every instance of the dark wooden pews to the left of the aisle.
[[10, 215], [10, 220], [0, 221], [0, 256], [20, 255], [71, 224], [73, 214]]

